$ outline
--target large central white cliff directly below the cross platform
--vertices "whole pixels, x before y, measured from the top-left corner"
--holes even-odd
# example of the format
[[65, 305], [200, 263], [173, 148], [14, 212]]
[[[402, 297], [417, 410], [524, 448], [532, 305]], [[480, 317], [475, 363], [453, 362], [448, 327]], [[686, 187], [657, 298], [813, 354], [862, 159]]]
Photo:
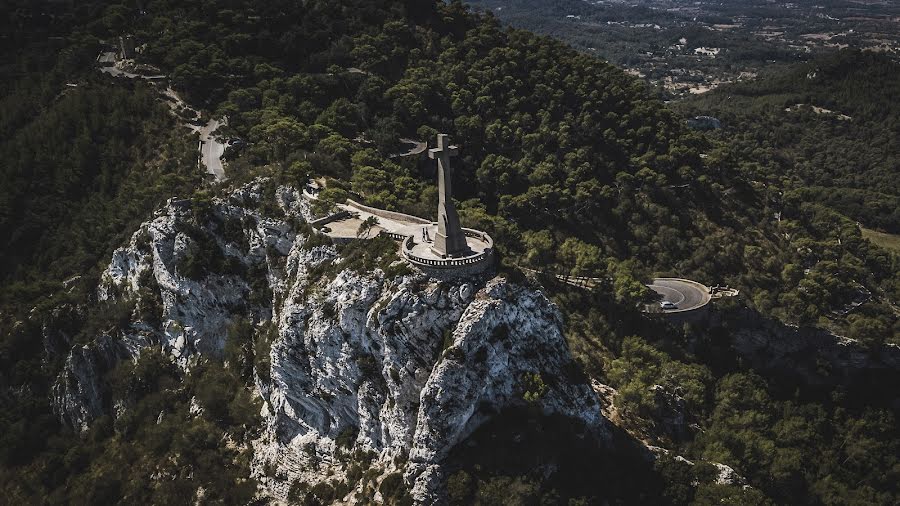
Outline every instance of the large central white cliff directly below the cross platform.
[[[340, 271], [313, 282], [309, 266], [329, 252], [292, 251], [294, 282], [278, 311], [268, 424], [256, 444], [260, 478], [275, 496], [340, 477], [338, 441], [374, 452], [382, 472], [405, 469], [413, 496], [441, 496], [441, 462], [492, 413], [525, 404], [529, 378], [543, 378], [536, 404], [606, 435], [590, 386], [570, 381], [571, 357], [557, 309], [540, 292], [502, 279], [483, 287], [413, 274]], [[338, 262], [338, 265], [340, 262]], [[263, 390], [263, 389], [261, 389]], [[263, 476], [264, 469], [278, 469]]]

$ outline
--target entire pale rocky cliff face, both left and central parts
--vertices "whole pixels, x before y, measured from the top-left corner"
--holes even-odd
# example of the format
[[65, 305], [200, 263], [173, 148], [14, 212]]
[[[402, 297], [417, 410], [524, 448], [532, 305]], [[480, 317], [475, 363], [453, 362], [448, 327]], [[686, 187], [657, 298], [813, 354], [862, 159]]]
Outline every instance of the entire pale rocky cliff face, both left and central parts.
[[[450, 449], [513, 405], [578, 418], [607, 437], [542, 293], [501, 278], [348, 267], [352, 258], [292, 225], [308, 217], [295, 191], [277, 190], [274, 218], [258, 209], [261, 191], [203, 208], [170, 201], [115, 252], [99, 298], [135, 303], [133, 321], [70, 352], [54, 389], [62, 420], [86, 428], [110, 410], [100, 377], [118, 360], [159, 346], [189, 370], [221, 356], [229, 324], [245, 318], [269, 344], [256, 347], [268, 357], [256, 360], [265, 402], [254, 470], [277, 498], [293, 483], [341, 478], [368, 455], [434, 502]], [[192, 266], [198, 252], [209, 272]]]

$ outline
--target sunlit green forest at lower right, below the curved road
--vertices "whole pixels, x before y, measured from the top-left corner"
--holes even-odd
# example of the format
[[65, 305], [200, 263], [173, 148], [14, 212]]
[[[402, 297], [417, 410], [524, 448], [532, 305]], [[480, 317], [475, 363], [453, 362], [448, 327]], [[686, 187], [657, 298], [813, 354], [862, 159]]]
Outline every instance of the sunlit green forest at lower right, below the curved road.
[[[717, 471], [708, 462], [733, 467], [754, 487], [741, 504], [895, 502], [895, 396], [872, 385], [895, 382], [896, 371], [840, 378], [820, 364], [817, 374], [833, 383], [810, 384], [786, 371], [754, 370], [731, 348], [730, 328], [649, 325], [617, 307], [611, 295], [550, 288], [569, 320], [576, 360], [616, 389], [617, 424], [696, 464], [657, 462], [653, 476], [663, 482], [662, 502], [738, 500], [739, 488], [712, 483], [710, 473]], [[596, 307], [610, 309], [590, 309]], [[865, 316], [853, 320], [872, 323]], [[877, 332], [883, 329], [860, 335]]]

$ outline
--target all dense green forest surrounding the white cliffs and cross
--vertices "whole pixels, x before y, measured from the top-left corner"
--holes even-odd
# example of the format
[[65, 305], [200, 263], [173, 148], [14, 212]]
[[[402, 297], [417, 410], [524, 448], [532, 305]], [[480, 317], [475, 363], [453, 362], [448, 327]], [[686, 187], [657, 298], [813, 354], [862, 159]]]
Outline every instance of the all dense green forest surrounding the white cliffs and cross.
[[[716, 485], [708, 466], [661, 459], [656, 469], [633, 468], [655, 480], [645, 499], [896, 502], [895, 407], [840, 388], [829, 395], [786, 388], [710, 344], [717, 336], [709, 329], [648, 322], [635, 308], [646, 296], [640, 281], [678, 274], [739, 286], [747, 294], [741, 303], [762, 317], [834, 329], [872, 353], [897, 341], [891, 302], [900, 298], [900, 260], [864, 240], [845, 216], [892, 230], [896, 207], [884, 204], [882, 212], [857, 204], [863, 210], [855, 214], [851, 197], [804, 193], [852, 188], [869, 199], [878, 188], [896, 186], [889, 177], [897, 159], [890, 151], [896, 135], [888, 138], [897, 130], [892, 104], [860, 95], [846, 104], [814, 101], [814, 88], [797, 92], [803, 97], [797, 103], [855, 117], [884, 114], [889, 128], [877, 134], [884, 157], [857, 151], [865, 175], [829, 172], [819, 170], [827, 160], [813, 156], [820, 150], [805, 151], [814, 137], [797, 133], [795, 144], [770, 156], [751, 148], [753, 139], [772, 135], [767, 123], [747, 123], [746, 143], [727, 132], [688, 130], [681, 115], [620, 69], [501, 28], [455, 1], [156, 0], [59, 9], [45, 18], [39, 6], [22, 3], [7, 20], [28, 50], [4, 54], [0, 124], [0, 231], [10, 238], [0, 250], [6, 497], [172, 504], [202, 486], [210, 502], [244, 504], [253, 494], [248, 456], [222, 441], [252, 437], [254, 420], [246, 414], [254, 401], [239, 387], [246, 378], [221, 363], [189, 375], [154, 354], [121, 365], [108, 381], [127, 399], [129, 414], [102, 419], [86, 435], [72, 434], [49, 412], [62, 358], [44, 352], [48, 329], [83, 342], [127, 320], [133, 308], [89, 304], [98, 266], [161, 202], [201, 187], [194, 140], [156, 100], [157, 90], [91, 68], [101, 40], [131, 33], [147, 44], [143, 62], [168, 74], [207, 114], [227, 116], [227, 134], [246, 140], [228, 166], [235, 184], [259, 175], [292, 184], [323, 176], [326, 197], [352, 195], [431, 216], [431, 181], [415, 160], [390, 155], [402, 137], [447, 132], [462, 148], [455, 185], [462, 219], [491, 232], [507, 275], [526, 266], [609, 277], [608, 290], [595, 294], [548, 288], [567, 314], [570, 346], [584, 372], [619, 389], [630, 431], [698, 462], [731, 465], [752, 486]], [[39, 45], [23, 35], [27, 28], [63, 37], [63, 47]], [[876, 69], [869, 79], [886, 85], [891, 75]], [[773, 102], [785, 107], [783, 99]], [[781, 114], [806, 121], [813, 113]], [[822, 128], [828, 142], [846, 137], [842, 123]], [[778, 165], [786, 156], [793, 157], [792, 170]], [[812, 158], [804, 165], [801, 156]], [[803, 168], [795, 171], [795, 164]], [[896, 195], [885, 190], [883, 198]], [[71, 289], [63, 281], [74, 275], [82, 278]], [[861, 289], [872, 299], [842, 314]], [[235, 326], [236, 335], [244, 332]], [[702, 429], [696, 437], [660, 431], [656, 401], [647, 396], [652, 385], [681, 389]], [[189, 416], [192, 397], [214, 408], [209, 418]], [[166, 416], [158, 421], [161, 411]], [[509, 423], [528, 438], [541, 427], [569, 430], [554, 420], [522, 422], [533, 415], [513, 414]], [[475, 437], [490, 448], [491, 432], [504, 427]], [[541, 450], [564, 461], [573, 443], [559, 441]], [[512, 443], [501, 440], [497, 448], [502, 444]], [[523, 502], [627, 502], [640, 488], [599, 484], [571, 465], [552, 476], [521, 465], [527, 459], [476, 465], [483, 457], [454, 456], [459, 472], [451, 499], [490, 504], [512, 484]], [[150, 484], [151, 474], [172, 479]]]

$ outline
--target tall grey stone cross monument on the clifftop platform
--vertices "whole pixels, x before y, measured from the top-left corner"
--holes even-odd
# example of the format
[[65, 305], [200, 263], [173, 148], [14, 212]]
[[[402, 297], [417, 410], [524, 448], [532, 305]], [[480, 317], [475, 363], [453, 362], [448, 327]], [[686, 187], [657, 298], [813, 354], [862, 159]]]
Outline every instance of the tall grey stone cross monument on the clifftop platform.
[[459, 225], [459, 216], [451, 198], [453, 169], [450, 167], [450, 157], [457, 154], [459, 149], [449, 145], [446, 134], [438, 134], [437, 147], [428, 150], [428, 157], [438, 162], [438, 230], [431, 250], [442, 258], [469, 252], [466, 236]]

